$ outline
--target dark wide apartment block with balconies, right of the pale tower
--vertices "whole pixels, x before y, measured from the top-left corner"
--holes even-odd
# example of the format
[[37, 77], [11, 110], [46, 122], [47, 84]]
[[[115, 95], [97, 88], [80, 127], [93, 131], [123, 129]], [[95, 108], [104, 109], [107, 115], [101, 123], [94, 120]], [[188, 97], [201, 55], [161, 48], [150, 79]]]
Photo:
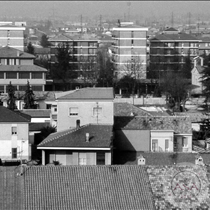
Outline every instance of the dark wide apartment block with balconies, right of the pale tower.
[[185, 58], [199, 54], [201, 40], [178, 31], [165, 31], [150, 39], [150, 68], [158, 78], [160, 71], [181, 70]]

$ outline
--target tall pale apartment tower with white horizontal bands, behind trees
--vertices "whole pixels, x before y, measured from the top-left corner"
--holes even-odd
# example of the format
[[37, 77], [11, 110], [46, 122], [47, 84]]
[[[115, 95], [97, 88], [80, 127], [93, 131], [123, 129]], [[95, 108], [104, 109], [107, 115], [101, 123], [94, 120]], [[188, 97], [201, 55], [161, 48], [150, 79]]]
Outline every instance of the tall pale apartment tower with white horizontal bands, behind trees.
[[142, 28], [134, 25], [120, 24], [113, 28], [113, 60], [117, 70], [115, 75], [120, 78], [126, 74], [126, 64], [135, 62], [140, 64], [141, 72], [144, 74], [141, 78], [146, 78], [147, 64], [147, 31], [148, 28]]

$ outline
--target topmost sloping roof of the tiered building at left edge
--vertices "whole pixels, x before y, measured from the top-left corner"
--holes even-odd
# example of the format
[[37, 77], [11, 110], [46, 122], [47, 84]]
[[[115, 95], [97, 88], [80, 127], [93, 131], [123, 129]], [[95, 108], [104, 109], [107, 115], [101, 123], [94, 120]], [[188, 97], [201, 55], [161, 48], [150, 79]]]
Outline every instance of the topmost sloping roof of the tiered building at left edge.
[[[19, 53], [19, 55], [18, 55]], [[12, 47], [2, 47], [0, 48], [0, 58], [35, 58], [34, 55], [17, 50]]]

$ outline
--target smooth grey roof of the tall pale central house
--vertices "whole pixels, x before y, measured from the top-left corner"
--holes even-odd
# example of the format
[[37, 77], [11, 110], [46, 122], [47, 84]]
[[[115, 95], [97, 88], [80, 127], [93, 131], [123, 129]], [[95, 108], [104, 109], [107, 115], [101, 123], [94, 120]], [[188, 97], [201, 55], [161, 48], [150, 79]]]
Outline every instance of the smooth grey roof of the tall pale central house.
[[67, 93], [61, 97], [58, 97], [58, 100], [68, 99], [114, 99], [113, 88], [82, 88], [75, 90], [71, 93]]

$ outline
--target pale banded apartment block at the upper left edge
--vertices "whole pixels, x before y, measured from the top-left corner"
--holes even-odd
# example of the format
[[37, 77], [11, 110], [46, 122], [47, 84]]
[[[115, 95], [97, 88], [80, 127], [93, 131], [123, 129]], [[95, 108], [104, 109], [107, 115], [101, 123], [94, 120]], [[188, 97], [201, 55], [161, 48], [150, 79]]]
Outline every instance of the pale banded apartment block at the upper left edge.
[[24, 50], [23, 26], [0, 25], [0, 46], [9, 46], [17, 50]]

